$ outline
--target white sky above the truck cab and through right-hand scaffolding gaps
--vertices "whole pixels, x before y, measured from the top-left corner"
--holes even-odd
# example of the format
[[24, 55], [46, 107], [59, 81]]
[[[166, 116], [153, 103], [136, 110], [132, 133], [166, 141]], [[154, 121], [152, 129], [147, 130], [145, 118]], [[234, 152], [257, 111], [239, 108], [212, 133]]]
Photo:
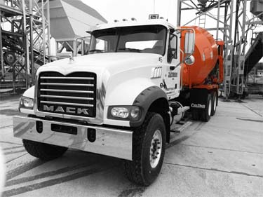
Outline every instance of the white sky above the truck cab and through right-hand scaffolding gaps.
[[[84, 4], [94, 8], [98, 11], [108, 22], [114, 22], [114, 20], [122, 20], [126, 18], [136, 18], [137, 20], [147, 20], [149, 14], [157, 13], [159, 16], [167, 19], [173, 25], [177, 25], [177, 0], [81, 0]], [[248, 17], [252, 17], [250, 10], [250, 1], [248, 1], [247, 7]], [[182, 25], [184, 22], [195, 18], [196, 11], [184, 12], [182, 16]], [[213, 15], [217, 15], [216, 10]], [[223, 13], [222, 13], [223, 14]], [[216, 27], [216, 21], [210, 20], [206, 17], [205, 27]], [[198, 26], [198, 20], [195, 20], [191, 25]], [[259, 29], [263, 31], [263, 27]], [[215, 32], [210, 32], [215, 34]], [[215, 36], [215, 35], [214, 35]], [[222, 34], [220, 34], [220, 39], [222, 39]], [[248, 42], [250, 39], [248, 40]], [[250, 44], [246, 46], [248, 50]], [[263, 62], [260, 60], [260, 62]]]

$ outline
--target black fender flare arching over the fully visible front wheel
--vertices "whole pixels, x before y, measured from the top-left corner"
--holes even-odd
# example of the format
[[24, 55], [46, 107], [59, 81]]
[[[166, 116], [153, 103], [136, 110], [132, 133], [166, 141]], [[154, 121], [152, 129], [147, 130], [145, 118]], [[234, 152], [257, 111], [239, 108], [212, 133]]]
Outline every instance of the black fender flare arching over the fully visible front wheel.
[[142, 93], [140, 93], [140, 95], [138, 95], [133, 102], [133, 105], [138, 106], [142, 109], [142, 117], [139, 121], [130, 122], [130, 126], [137, 127], [142, 125], [149, 107], [154, 101], [160, 98], [166, 99], [167, 105], [165, 105], [164, 107], [168, 107], [168, 98], [166, 96], [166, 93], [164, 93], [163, 90], [161, 90], [161, 88], [159, 88], [158, 86], [151, 86], [143, 90]]

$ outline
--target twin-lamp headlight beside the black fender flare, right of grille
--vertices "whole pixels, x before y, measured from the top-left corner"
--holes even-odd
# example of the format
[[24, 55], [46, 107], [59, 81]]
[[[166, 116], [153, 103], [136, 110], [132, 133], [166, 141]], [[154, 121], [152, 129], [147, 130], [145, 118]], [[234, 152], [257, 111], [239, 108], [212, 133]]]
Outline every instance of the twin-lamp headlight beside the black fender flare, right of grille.
[[137, 121], [140, 119], [141, 110], [137, 106], [110, 106], [107, 118], [127, 121]]

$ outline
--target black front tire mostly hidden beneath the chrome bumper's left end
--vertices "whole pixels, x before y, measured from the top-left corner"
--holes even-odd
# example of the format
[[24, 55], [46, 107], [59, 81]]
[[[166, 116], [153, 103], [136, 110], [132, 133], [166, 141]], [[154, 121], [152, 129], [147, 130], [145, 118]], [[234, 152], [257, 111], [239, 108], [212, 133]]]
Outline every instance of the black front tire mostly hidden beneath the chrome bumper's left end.
[[22, 142], [30, 155], [40, 158], [43, 161], [49, 161], [54, 158], [58, 158], [62, 156], [65, 151], [67, 151], [67, 147], [58, 147], [51, 144], [44, 144], [41, 142], [34, 142], [25, 139], [23, 139]]

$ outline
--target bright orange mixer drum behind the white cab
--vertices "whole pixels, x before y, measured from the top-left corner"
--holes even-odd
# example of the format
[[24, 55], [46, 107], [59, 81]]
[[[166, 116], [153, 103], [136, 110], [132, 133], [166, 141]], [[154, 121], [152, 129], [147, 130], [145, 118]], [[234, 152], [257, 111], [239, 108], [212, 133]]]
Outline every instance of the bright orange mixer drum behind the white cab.
[[[205, 83], [210, 72], [214, 69], [218, 60], [217, 43], [213, 36], [201, 27], [191, 26], [195, 31], [194, 64], [183, 64], [182, 86], [193, 87]], [[184, 34], [182, 32], [181, 49], [184, 50]]]

